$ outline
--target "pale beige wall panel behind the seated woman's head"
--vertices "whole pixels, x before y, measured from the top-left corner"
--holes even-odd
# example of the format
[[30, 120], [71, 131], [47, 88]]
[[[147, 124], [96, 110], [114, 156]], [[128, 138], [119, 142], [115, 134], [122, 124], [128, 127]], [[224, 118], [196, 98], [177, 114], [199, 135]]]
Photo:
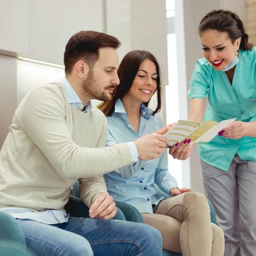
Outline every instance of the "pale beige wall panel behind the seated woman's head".
[[[165, 0], [107, 0], [107, 33], [119, 38], [119, 61], [131, 50], [147, 50], [155, 55], [168, 84], [167, 21]], [[152, 104], [154, 105], [154, 104]], [[165, 88], [163, 89], [165, 106]], [[154, 108], [154, 107], [152, 107]], [[166, 122], [165, 108], [160, 115]]]

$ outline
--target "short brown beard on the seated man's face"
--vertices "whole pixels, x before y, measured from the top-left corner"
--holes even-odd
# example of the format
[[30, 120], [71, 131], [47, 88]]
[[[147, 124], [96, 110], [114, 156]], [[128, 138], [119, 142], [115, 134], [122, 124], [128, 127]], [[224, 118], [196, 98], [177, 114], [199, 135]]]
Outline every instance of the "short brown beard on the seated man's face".
[[89, 94], [92, 99], [99, 101], [110, 101], [111, 95], [107, 89], [114, 88], [114, 85], [108, 85], [104, 88], [97, 83], [93, 76], [93, 71], [90, 70], [87, 79], [82, 83], [83, 91]]

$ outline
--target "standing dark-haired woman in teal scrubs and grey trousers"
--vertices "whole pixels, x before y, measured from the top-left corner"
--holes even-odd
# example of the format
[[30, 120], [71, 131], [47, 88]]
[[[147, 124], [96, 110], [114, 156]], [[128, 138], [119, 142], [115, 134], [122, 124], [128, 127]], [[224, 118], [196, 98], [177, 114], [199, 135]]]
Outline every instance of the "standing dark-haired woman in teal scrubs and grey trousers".
[[255, 256], [256, 47], [238, 15], [227, 10], [202, 18], [199, 35], [204, 58], [192, 73], [189, 120], [236, 118], [199, 145], [205, 191], [224, 230], [224, 255]]

